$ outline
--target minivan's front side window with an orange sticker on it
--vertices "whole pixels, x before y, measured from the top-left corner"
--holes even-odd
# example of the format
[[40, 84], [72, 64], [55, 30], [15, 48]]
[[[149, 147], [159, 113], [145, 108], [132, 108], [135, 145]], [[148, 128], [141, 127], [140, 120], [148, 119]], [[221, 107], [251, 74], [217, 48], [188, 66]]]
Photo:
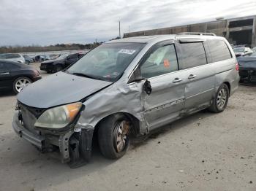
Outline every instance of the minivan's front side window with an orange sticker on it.
[[174, 44], [159, 47], [140, 66], [141, 76], [157, 77], [178, 70], [178, 61]]

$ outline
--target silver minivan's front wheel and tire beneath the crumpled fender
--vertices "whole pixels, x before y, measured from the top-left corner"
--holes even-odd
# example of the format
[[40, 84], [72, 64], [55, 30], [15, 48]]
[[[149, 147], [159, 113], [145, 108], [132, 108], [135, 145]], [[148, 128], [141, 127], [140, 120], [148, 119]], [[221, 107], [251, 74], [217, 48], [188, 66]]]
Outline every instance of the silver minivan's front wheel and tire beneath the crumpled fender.
[[130, 125], [123, 114], [111, 115], [99, 123], [98, 141], [103, 156], [109, 159], [124, 156], [129, 148]]

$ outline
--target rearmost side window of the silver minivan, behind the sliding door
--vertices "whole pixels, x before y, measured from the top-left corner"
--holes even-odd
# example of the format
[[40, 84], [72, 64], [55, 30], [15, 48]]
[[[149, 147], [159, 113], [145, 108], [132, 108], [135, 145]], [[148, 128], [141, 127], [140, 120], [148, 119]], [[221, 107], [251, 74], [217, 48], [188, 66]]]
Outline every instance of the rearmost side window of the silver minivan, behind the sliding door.
[[206, 44], [209, 47], [212, 63], [232, 58], [230, 50], [223, 40], [208, 40]]

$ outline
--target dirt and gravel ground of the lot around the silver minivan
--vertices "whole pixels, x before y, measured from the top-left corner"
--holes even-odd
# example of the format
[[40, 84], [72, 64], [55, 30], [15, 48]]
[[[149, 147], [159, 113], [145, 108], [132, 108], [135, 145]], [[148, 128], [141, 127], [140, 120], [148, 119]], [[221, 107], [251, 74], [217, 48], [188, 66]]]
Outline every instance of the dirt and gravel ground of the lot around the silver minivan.
[[[43, 74], [45, 76], [45, 74]], [[256, 87], [240, 86], [225, 112], [200, 112], [107, 160], [94, 148], [77, 169], [12, 130], [15, 95], [0, 95], [0, 190], [256, 190]]]

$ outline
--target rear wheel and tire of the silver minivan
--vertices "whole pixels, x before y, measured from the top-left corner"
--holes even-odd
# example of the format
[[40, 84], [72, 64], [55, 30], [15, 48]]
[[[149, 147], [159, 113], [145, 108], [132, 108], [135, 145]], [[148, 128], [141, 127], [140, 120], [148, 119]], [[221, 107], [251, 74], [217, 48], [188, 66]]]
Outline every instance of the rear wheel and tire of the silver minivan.
[[214, 113], [223, 112], [227, 106], [228, 98], [230, 96], [230, 90], [226, 84], [222, 84], [212, 102], [211, 106], [208, 108], [209, 111]]

